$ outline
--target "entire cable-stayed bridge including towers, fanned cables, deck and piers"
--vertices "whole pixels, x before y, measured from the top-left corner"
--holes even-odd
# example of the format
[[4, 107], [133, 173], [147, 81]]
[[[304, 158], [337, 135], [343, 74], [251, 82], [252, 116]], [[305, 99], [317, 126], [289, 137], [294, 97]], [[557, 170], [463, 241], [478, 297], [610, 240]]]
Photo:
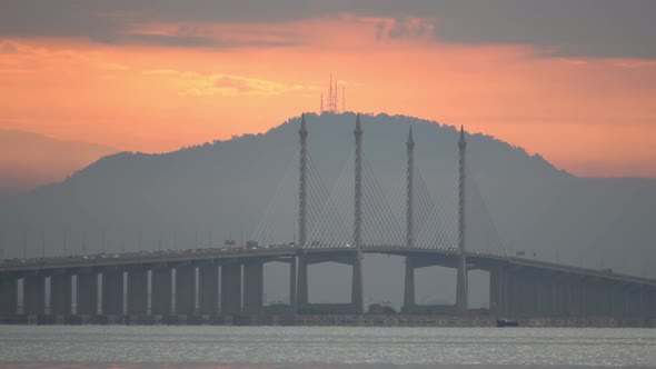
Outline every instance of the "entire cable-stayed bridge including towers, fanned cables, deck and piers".
[[[448, 196], [434, 199], [415, 163], [413, 130], [399, 180], [385, 191], [366, 159], [365, 132], [357, 117], [355, 154], [331, 189], [321, 180], [308, 147], [305, 116], [300, 148], [262, 215], [252, 240], [241, 247], [180, 252], [117, 253], [76, 258], [3, 260], [0, 263], [0, 316], [4, 320], [73, 319], [122, 321], [126, 317], [258, 316], [264, 307], [264, 265], [289, 265], [286, 315], [364, 312], [362, 255], [405, 258], [402, 312], [474, 315], [468, 275], [489, 275], [489, 313], [499, 317], [608, 317], [646, 321], [656, 317], [656, 280], [559, 263], [516, 258], [505, 252], [467, 164], [460, 131], [459, 160]], [[298, 163], [298, 167], [296, 167]], [[297, 170], [298, 169], [298, 170]], [[448, 186], [447, 186], [448, 187]], [[281, 212], [294, 208], [294, 239], [272, 245], [266, 235]], [[351, 266], [350, 303], [310, 303], [308, 268], [338, 262]], [[415, 271], [440, 266], [457, 270], [456, 303], [415, 301]], [[280, 311], [279, 311], [280, 312]], [[479, 312], [477, 312], [479, 313]], [[36, 318], [34, 318], [36, 317]], [[68, 319], [68, 320], [67, 320]]]

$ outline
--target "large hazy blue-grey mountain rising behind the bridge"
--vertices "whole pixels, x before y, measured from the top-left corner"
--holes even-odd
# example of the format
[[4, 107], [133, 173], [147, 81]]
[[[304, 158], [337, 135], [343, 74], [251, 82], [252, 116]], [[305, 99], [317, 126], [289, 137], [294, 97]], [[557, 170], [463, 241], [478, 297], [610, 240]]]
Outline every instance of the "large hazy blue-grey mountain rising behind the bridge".
[[[352, 157], [354, 113], [306, 114], [308, 151], [326, 186]], [[416, 163], [439, 192], [456, 178], [458, 130], [402, 116], [362, 116], [365, 158], [388, 190], [404, 168], [408, 127], [413, 124]], [[40, 255], [47, 235], [51, 255], [68, 250], [189, 248], [221, 246], [225, 239], [251, 237], [280, 188], [296, 176], [299, 117], [264, 134], [245, 134], [162, 154], [121, 152], [105, 157], [61, 183], [4, 201], [0, 231], [4, 253]], [[484, 134], [467, 134], [468, 163], [507, 253], [525, 251], [538, 259], [636, 275], [656, 271], [656, 180], [577, 178], [538, 154]], [[270, 225], [274, 241], [288, 242], [296, 232], [297, 188], [282, 183], [287, 197]], [[261, 226], [261, 225], [260, 225]], [[260, 227], [261, 228], [261, 227]], [[265, 227], [268, 229], [268, 227]], [[372, 293], [399, 300], [401, 286], [391, 261], [368, 257], [385, 268], [369, 268], [365, 282]], [[397, 268], [398, 267], [398, 268]], [[316, 283], [329, 290], [332, 280], [318, 268]], [[280, 271], [281, 272], [281, 271]], [[399, 269], [399, 273], [402, 272]], [[347, 272], [348, 273], [348, 272]], [[390, 275], [391, 273], [391, 275]], [[321, 278], [321, 276], [326, 278]], [[284, 278], [280, 278], [285, 280]], [[435, 281], [445, 285], [444, 281]], [[281, 285], [284, 288], [285, 283]], [[339, 295], [338, 292], [335, 292]], [[391, 295], [390, 295], [391, 293]], [[429, 293], [434, 295], [434, 293]], [[332, 296], [331, 293], [327, 295]]]

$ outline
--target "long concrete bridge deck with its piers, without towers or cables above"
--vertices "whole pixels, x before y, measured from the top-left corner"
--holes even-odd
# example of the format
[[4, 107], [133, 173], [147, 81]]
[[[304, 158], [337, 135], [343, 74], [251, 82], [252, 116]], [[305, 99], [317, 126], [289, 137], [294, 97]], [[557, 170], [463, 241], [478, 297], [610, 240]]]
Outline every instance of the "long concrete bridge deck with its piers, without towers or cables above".
[[[457, 268], [456, 250], [381, 245], [362, 246], [361, 252], [406, 258], [404, 313], [457, 313], [455, 305], [421, 306], [415, 303], [414, 296], [415, 270]], [[56, 321], [93, 321], [93, 317], [143, 321], [172, 316], [358, 313], [361, 307], [356, 306], [357, 296], [347, 305], [307, 300], [308, 266], [332, 261], [354, 266], [355, 270], [357, 258], [352, 247], [271, 246], [8, 260], [0, 265], [0, 316], [4, 321], [20, 316], [50, 316]], [[274, 261], [289, 265], [292, 301], [268, 310], [262, 301], [264, 265]], [[656, 318], [654, 279], [481, 253], [467, 255], [467, 270], [489, 273], [486, 313], [493, 316], [608, 317], [619, 322]], [[351, 291], [357, 290], [356, 283], [354, 278]]]

